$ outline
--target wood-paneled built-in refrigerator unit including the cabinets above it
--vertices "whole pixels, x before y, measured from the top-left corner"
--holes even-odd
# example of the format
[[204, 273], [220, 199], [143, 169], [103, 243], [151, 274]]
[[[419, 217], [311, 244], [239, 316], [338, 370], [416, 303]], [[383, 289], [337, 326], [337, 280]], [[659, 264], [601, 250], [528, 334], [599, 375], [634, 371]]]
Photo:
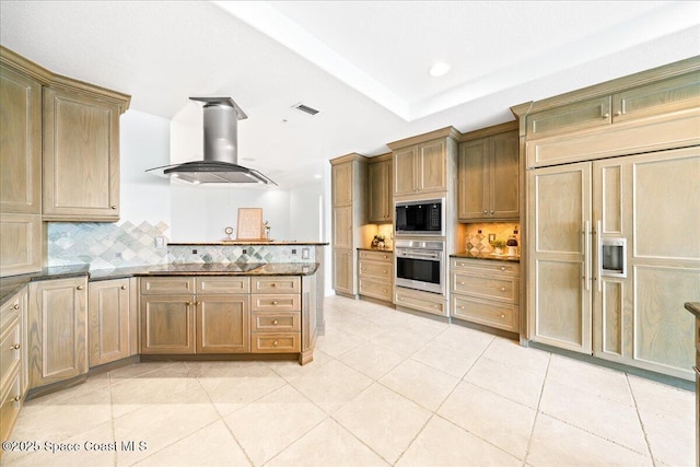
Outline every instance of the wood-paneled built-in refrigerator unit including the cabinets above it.
[[688, 59], [513, 108], [529, 340], [695, 380], [682, 305], [700, 301], [699, 70]]

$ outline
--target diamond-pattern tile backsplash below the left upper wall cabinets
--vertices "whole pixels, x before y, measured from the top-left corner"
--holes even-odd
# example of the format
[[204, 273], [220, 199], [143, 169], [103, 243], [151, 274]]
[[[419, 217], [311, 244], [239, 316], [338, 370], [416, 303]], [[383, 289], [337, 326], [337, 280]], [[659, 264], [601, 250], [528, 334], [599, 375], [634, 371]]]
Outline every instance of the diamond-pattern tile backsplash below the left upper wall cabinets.
[[90, 269], [110, 269], [167, 262], [167, 247], [155, 247], [155, 240], [163, 237], [167, 244], [168, 230], [165, 222], [51, 222], [48, 266], [89, 264]]

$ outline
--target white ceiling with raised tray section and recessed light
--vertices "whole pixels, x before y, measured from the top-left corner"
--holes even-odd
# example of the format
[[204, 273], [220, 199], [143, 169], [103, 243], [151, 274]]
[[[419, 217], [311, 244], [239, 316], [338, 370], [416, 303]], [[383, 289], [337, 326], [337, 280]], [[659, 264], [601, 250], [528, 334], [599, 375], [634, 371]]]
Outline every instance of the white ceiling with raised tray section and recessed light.
[[700, 2], [2, 0], [0, 43], [167, 119], [231, 96], [240, 163], [296, 187], [349, 152], [697, 56]]

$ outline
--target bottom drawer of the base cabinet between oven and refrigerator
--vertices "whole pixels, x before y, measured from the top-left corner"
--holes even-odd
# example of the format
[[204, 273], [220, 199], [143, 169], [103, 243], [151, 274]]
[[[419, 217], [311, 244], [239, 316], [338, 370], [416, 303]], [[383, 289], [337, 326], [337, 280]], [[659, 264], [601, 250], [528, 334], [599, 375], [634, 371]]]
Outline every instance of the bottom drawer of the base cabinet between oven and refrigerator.
[[520, 308], [508, 303], [452, 295], [452, 316], [513, 332], [520, 328]]

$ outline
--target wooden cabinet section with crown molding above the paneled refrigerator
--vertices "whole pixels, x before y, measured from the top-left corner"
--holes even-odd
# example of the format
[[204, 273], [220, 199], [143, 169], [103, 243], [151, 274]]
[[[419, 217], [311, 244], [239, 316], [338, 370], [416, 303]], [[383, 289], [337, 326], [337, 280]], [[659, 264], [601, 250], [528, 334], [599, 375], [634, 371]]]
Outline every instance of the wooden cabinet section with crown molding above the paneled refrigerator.
[[700, 58], [512, 107], [528, 167], [700, 143]]

